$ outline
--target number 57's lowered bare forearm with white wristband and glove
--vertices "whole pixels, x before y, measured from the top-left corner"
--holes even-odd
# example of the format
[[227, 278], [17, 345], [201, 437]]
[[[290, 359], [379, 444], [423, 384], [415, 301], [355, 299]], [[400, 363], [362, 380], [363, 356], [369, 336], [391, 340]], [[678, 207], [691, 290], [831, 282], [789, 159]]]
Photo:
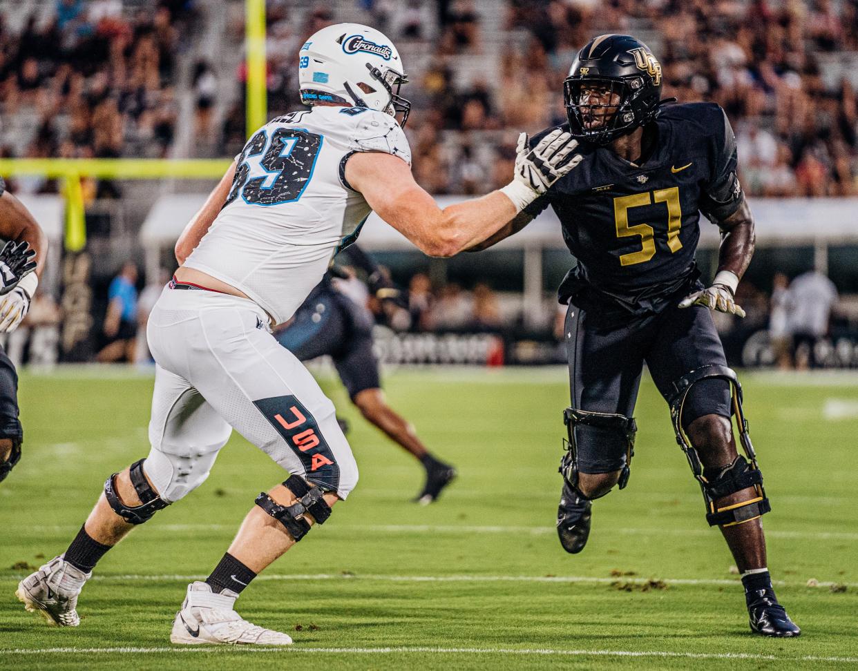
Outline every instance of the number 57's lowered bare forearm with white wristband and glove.
[[718, 249], [718, 271], [710, 287], [696, 291], [683, 298], [680, 308], [705, 305], [718, 312], [728, 312], [739, 317], [745, 310], [735, 303], [734, 295], [742, 275], [751, 263], [756, 233], [751, 208], [742, 199], [738, 209], [727, 218], [718, 221], [721, 229], [721, 247]]

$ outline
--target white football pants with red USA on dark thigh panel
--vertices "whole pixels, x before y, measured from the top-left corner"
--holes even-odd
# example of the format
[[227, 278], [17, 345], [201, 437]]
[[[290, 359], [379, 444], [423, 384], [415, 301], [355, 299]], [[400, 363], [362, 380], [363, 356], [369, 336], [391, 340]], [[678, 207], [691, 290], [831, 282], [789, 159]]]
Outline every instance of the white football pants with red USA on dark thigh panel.
[[234, 428], [289, 473], [345, 499], [358, 467], [331, 403], [246, 298], [165, 288], [149, 316], [157, 364], [143, 470], [169, 502], [208, 477]]

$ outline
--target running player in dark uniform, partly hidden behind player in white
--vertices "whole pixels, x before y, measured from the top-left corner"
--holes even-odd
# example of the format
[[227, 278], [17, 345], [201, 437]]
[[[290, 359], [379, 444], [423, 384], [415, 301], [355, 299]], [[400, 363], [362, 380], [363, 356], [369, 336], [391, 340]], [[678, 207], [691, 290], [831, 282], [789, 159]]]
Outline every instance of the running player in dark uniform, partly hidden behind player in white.
[[[181, 241], [179, 241], [181, 243]], [[343, 258], [345, 257], [345, 258]], [[358, 245], [344, 249], [336, 257], [319, 285], [301, 305], [292, 321], [275, 331], [277, 341], [300, 361], [330, 356], [348, 398], [384, 434], [412, 454], [426, 470], [426, 483], [414, 501], [429, 504], [456, 477], [456, 469], [436, 458], [414, 431], [414, 426], [396, 413], [384, 398], [378, 359], [372, 351], [372, 327], [375, 318], [366, 305], [356, 303], [338, 288], [339, 264], [366, 273], [366, 285], [381, 303], [384, 314], [396, 315], [402, 292]], [[341, 278], [345, 279], [345, 278]]]

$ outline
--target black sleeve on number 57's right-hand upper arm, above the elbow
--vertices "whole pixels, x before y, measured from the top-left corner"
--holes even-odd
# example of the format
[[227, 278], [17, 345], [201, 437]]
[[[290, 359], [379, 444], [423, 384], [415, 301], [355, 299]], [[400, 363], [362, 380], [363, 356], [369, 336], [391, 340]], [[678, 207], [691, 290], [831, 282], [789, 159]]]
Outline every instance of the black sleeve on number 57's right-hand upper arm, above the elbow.
[[727, 115], [719, 107], [716, 130], [710, 138], [710, 182], [700, 198], [700, 211], [714, 224], [727, 219], [739, 209], [745, 194], [736, 175], [738, 153], [736, 136]]

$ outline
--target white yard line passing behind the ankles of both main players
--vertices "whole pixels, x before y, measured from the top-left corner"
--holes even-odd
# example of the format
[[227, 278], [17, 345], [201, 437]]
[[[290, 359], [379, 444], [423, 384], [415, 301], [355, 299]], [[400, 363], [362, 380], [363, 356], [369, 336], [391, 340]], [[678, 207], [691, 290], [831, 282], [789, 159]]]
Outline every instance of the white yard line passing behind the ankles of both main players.
[[[25, 576], [15, 576], [17, 579]], [[208, 575], [166, 573], [152, 575], [148, 573], [117, 573], [106, 575], [94, 575], [91, 580], [97, 582], [191, 582], [193, 580], [205, 580]], [[263, 573], [256, 580], [275, 581], [324, 581], [324, 580], [365, 580], [382, 583], [561, 583], [561, 584], [647, 584], [650, 580], [660, 580], [668, 585], [736, 585], [740, 586], [739, 578], [660, 578], [658, 576], [615, 576], [601, 578], [598, 576], [511, 576], [511, 575], [436, 575], [436, 576], [402, 576], [378, 573]], [[807, 587], [807, 583], [800, 581], [772, 580], [772, 584], [787, 587]], [[858, 587], [858, 583], [834, 583], [820, 581], [821, 588], [831, 587], [833, 584], [843, 584], [847, 587]]]

